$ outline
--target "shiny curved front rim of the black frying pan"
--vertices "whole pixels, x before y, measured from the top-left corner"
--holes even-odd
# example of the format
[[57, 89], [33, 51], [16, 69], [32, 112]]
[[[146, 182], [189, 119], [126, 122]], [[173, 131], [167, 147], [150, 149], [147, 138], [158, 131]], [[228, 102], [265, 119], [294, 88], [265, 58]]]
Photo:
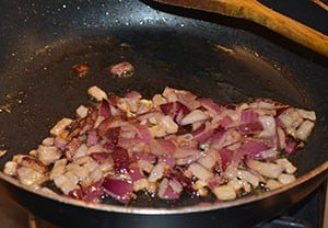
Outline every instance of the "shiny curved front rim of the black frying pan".
[[328, 161], [325, 161], [319, 167], [313, 169], [308, 173], [298, 176], [294, 182], [283, 185], [277, 190], [272, 190], [269, 192], [249, 195], [245, 197], [241, 197], [238, 200], [234, 200], [231, 202], [213, 202], [203, 205], [192, 205], [192, 206], [179, 206], [173, 208], [165, 208], [165, 207], [133, 207], [133, 206], [125, 206], [125, 205], [110, 205], [110, 204], [99, 204], [99, 203], [86, 203], [83, 201], [69, 198], [62, 195], [52, 195], [47, 194], [40, 190], [33, 190], [32, 187], [25, 186], [20, 183], [16, 179], [4, 174], [2, 171], [0, 172], [0, 180], [8, 182], [16, 187], [25, 190], [30, 193], [37, 194], [38, 196], [58, 202], [63, 203], [70, 206], [83, 207], [86, 209], [94, 209], [94, 210], [103, 210], [107, 213], [121, 213], [121, 214], [130, 214], [130, 215], [179, 215], [179, 214], [191, 214], [191, 213], [203, 213], [209, 210], [218, 210], [218, 209], [225, 209], [229, 207], [241, 206], [249, 203], [254, 203], [257, 201], [261, 201], [265, 198], [269, 198], [271, 196], [278, 195], [282, 192], [289, 191], [297, 185], [301, 185], [311, 179], [328, 171]]

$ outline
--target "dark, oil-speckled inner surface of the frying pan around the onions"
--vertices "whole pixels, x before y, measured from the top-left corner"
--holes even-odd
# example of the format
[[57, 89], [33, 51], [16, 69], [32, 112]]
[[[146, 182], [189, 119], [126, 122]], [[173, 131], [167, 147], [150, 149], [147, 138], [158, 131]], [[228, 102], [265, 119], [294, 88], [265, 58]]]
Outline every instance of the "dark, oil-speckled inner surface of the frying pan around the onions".
[[[137, 90], [150, 98], [168, 86], [219, 103], [270, 98], [315, 110], [313, 136], [292, 160], [300, 176], [327, 161], [323, 59], [300, 57], [238, 25], [175, 16], [137, 1], [8, 4], [21, 10], [7, 19], [12, 30], [1, 26], [2, 34], [15, 34], [1, 43], [0, 149], [9, 151], [1, 170], [14, 153], [35, 148], [62, 116], [89, 105], [86, 90], [94, 84], [119, 95]], [[134, 66], [134, 75], [113, 77], [108, 67], [124, 60]], [[91, 66], [85, 77], [74, 73], [78, 64]]]

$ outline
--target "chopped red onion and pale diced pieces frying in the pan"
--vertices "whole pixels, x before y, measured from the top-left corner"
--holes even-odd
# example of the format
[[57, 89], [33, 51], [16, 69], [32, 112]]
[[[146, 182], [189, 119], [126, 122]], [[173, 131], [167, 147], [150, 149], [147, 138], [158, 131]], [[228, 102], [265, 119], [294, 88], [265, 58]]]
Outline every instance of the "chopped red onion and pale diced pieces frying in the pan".
[[[112, 72], [124, 76], [131, 67], [121, 62]], [[97, 87], [89, 93], [97, 105], [59, 121], [51, 137], [15, 156], [4, 172], [31, 186], [54, 181], [85, 202], [110, 196], [129, 204], [134, 192], [231, 201], [260, 182], [274, 189], [293, 181], [296, 168], [283, 157], [304, 145], [316, 121], [313, 111], [270, 100], [220, 105], [172, 88], [151, 100], [137, 91], [108, 96]]]

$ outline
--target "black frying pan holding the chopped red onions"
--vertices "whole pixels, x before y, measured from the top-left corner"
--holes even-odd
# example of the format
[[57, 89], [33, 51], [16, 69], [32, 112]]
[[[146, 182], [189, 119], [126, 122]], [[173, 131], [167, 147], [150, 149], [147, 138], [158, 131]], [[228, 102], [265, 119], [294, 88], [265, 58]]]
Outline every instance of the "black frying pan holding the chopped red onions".
[[[0, 149], [8, 150], [1, 170], [62, 116], [87, 105], [94, 84], [147, 98], [169, 86], [220, 103], [270, 98], [318, 116], [305, 149], [291, 156], [297, 180], [233, 202], [85, 204], [34, 192], [0, 173], [1, 189], [37, 216], [60, 227], [251, 227], [281, 215], [327, 178], [328, 68], [319, 54], [242, 19], [151, 1], [14, 0], [1, 3], [0, 16]], [[114, 78], [108, 67], [122, 60], [136, 72]], [[90, 72], [78, 77], [77, 64], [90, 65]]]

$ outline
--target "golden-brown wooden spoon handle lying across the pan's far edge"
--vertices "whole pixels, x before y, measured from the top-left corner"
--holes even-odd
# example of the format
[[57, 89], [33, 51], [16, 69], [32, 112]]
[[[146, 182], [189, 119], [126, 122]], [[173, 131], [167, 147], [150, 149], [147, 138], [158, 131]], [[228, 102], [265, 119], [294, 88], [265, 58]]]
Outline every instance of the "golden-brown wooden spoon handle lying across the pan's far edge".
[[154, 0], [165, 4], [242, 18], [261, 24], [324, 56], [328, 56], [328, 36], [282, 15], [257, 0]]

